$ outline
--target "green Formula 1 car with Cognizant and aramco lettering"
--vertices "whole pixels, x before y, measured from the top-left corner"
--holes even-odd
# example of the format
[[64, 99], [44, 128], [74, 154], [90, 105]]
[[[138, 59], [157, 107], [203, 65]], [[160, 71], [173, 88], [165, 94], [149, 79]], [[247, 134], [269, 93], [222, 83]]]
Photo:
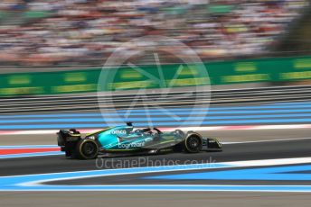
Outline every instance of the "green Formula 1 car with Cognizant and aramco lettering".
[[80, 159], [117, 153], [135, 155], [173, 151], [221, 151], [221, 143], [217, 139], [203, 138], [194, 131], [135, 129], [131, 122], [127, 122], [126, 126], [99, 130], [85, 137], [75, 129], [60, 130], [57, 135], [58, 145], [61, 151], [66, 152], [66, 157]]

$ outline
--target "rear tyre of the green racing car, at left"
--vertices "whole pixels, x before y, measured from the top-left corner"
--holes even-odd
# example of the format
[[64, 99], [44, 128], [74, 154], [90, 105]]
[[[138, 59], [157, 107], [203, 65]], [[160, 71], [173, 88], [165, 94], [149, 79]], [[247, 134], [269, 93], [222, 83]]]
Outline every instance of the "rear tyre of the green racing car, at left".
[[96, 158], [99, 154], [99, 146], [93, 139], [82, 139], [77, 144], [76, 152], [80, 159]]

